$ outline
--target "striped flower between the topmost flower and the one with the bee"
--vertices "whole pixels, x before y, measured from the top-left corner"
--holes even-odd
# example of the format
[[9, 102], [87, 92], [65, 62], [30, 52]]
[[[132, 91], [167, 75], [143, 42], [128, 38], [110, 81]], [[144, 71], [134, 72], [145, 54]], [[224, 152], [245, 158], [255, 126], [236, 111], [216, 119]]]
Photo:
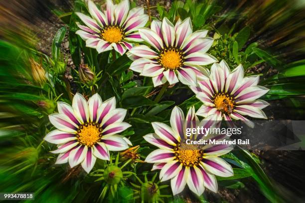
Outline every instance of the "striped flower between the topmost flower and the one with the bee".
[[[130, 69], [142, 76], [152, 77], [153, 85], [158, 86], [180, 81], [186, 85], [197, 85], [201, 76], [200, 65], [208, 65], [217, 60], [205, 53], [213, 39], [205, 37], [207, 30], [192, 31], [190, 18], [175, 26], [165, 17], [163, 21], [153, 20], [151, 29], [140, 28], [142, 39], [151, 45], [133, 47], [128, 55], [135, 60]], [[178, 77], [177, 77], [177, 76]]]

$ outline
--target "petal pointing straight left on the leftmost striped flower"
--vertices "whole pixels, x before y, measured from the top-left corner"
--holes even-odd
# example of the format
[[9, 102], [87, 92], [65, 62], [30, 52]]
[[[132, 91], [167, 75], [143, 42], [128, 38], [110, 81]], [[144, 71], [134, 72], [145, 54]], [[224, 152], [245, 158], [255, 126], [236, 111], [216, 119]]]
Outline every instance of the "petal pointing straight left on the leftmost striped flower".
[[74, 133], [67, 133], [60, 130], [49, 132], [44, 138], [45, 141], [53, 144], [63, 144], [76, 139]]

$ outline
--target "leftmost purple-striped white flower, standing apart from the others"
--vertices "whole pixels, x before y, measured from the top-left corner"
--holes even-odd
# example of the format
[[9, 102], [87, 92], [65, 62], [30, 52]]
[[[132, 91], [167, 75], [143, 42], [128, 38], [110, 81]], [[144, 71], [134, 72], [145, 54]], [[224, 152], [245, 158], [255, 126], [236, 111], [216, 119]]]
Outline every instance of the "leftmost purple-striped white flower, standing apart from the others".
[[49, 115], [57, 129], [44, 137], [58, 144], [58, 149], [52, 151], [59, 154], [55, 164], [69, 162], [71, 168], [81, 164], [89, 173], [97, 158], [109, 160], [109, 151], [125, 150], [131, 144], [127, 138], [117, 135], [131, 125], [122, 122], [126, 109], [116, 108], [114, 97], [102, 102], [95, 94], [87, 102], [77, 93], [72, 106], [58, 102], [57, 108], [59, 113]]

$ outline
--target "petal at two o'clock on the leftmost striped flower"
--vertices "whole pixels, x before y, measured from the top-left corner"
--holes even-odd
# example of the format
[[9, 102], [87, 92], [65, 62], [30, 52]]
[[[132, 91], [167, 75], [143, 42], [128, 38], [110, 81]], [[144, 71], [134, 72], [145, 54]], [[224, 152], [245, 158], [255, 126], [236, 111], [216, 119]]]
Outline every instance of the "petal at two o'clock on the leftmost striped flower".
[[115, 108], [108, 112], [102, 119], [101, 126], [105, 129], [108, 125], [115, 122], [122, 122], [126, 116], [127, 110], [124, 108]]

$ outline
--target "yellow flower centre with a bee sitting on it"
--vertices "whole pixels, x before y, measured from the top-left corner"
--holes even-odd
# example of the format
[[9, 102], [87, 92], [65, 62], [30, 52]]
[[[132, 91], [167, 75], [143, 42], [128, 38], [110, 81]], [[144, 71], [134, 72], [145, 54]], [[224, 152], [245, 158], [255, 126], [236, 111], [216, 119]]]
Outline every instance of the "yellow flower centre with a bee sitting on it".
[[220, 110], [223, 113], [232, 113], [234, 108], [234, 101], [232, 97], [229, 97], [228, 95], [224, 93], [217, 94], [214, 96], [214, 103], [218, 110]]

